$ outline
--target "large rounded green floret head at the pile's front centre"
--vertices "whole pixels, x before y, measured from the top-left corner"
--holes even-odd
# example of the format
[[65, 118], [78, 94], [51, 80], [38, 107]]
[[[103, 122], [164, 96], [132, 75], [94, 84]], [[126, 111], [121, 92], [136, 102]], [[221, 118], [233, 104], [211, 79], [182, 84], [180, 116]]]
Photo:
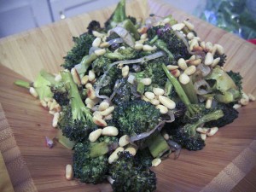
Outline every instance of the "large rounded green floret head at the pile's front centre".
[[143, 100], [123, 102], [114, 109], [113, 119], [121, 135], [134, 136], [153, 130], [160, 123], [160, 110]]

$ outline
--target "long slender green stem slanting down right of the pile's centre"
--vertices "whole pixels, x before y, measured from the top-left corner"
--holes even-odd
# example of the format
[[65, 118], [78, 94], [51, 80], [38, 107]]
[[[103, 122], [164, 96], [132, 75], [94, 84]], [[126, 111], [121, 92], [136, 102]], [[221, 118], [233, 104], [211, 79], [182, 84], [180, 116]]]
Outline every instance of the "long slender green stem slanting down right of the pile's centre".
[[169, 72], [166, 65], [163, 63], [162, 68], [166, 73], [166, 76], [170, 81], [172, 82], [174, 89], [177, 92], [177, 96], [181, 99], [181, 101], [185, 104], [185, 106], [188, 108], [189, 113], [191, 113], [192, 116], [195, 115], [195, 109], [191, 105], [191, 102], [189, 101], [189, 97], [186, 95], [185, 91], [183, 90], [183, 87], [181, 84], [177, 81], [177, 79], [172, 75], [172, 73]]

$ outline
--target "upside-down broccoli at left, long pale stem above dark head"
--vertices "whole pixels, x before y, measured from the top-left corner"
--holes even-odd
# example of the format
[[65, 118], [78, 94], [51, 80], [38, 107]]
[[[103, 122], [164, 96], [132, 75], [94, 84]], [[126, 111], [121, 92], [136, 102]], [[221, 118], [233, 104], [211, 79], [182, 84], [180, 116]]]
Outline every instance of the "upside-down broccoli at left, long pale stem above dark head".
[[70, 105], [62, 108], [58, 127], [70, 140], [83, 141], [90, 131], [96, 129], [96, 125], [92, 122], [90, 109], [85, 107], [71, 73], [62, 71], [61, 77], [67, 89], [68, 98], [70, 98]]

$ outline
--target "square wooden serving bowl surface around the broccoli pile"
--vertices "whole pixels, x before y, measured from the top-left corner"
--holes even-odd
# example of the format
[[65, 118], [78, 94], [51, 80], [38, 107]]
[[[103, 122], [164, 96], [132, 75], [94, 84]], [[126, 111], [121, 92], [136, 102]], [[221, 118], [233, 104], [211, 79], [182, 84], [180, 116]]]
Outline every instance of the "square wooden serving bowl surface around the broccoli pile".
[[[239, 71], [244, 77], [245, 91], [256, 95], [256, 47], [253, 44], [159, 1], [128, 2], [129, 15], [145, 17], [154, 13], [172, 14], [177, 20], [189, 18], [201, 39], [224, 46], [228, 55], [225, 67]], [[42, 68], [56, 73], [63, 62], [62, 56], [73, 46], [71, 37], [84, 32], [90, 20], [105, 20], [111, 13], [109, 10], [113, 8], [0, 39], [0, 102], [38, 191], [111, 191], [108, 183], [87, 185], [66, 181], [64, 170], [66, 164], [72, 162], [72, 151], [58, 144], [51, 149], [44, 146], [45, 136], [55, 136], [52, 116], [26, 90], [13, 85], [15, 79], [34, 79]], [[154, 168], [157, 191], [241, 189], [239, 184], [247, 183], [242, 179], [247, 173], [253, 175], [251, 169], [256, 163], [256, 103], [239, 111], [239, 118], [233, 124], [207, 139], [206, 148], [196, 152], [183, 150], [178, 160], [173, 160], [171, 155]]]

